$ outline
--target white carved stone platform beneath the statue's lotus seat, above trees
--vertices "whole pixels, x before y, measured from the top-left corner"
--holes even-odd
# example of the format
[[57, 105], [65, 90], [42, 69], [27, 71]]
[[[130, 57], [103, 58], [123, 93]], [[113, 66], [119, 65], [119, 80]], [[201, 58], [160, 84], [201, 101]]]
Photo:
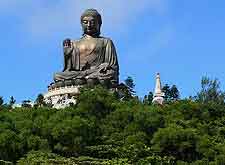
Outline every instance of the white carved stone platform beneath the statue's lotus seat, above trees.
[[53, 108], [65, 108], [71, 104], [76, 104], [76, 98], [79, 95], [79, 85], [71, 85], [64, 87], [48, 88], [48, 92], [44, 95], [47, 104], [52, 104]]

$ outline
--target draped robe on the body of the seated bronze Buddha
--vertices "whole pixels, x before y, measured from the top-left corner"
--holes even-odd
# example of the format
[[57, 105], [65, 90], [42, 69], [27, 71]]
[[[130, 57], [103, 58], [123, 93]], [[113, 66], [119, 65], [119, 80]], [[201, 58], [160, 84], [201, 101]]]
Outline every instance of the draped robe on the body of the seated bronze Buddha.
[[104, 37], [93, 38], [95, 46], [81, 53], [80, 43], [89, 42], [84, 36], [78, 41], [72, 41], [71, 50], [64, 48], [63, 72], [55, 73], [54, 80], [98, 79], [118, 82], [119, 65], [113, 42]]

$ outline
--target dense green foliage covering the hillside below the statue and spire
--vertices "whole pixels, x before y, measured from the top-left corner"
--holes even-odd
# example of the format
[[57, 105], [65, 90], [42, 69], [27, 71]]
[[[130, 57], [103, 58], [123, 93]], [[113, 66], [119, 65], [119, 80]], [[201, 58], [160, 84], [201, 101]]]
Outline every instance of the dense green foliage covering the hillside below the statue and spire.
[[0, 110], [0, 163], [225, 164], [224, 102], [157, 106], [97, 87], [66, 109]]

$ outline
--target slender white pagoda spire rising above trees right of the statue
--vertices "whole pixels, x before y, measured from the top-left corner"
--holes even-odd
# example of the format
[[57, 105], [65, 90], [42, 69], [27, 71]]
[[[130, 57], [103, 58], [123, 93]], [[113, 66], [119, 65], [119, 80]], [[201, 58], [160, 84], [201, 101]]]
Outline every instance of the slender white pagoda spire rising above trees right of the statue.
[[162, 92], [162, 86], [161, 86], [161, 80], [160, 80], [160, 74], [156, 74], [156, 84], [155, 84], [155, 92], [154, 92], [154, 98], [152, 100], [155, 104], [163, 104], [164, 101], [164, 93]]

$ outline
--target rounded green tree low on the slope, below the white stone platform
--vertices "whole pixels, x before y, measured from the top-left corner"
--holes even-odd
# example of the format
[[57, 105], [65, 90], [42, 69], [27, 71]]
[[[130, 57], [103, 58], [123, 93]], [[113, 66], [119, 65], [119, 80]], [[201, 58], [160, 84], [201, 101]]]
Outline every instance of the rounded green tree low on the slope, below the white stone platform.
[[54, 151], [64, 156], [79, 156], [94, 136], [93, 122], [79, 116], [58, 122], [51, 132]]

